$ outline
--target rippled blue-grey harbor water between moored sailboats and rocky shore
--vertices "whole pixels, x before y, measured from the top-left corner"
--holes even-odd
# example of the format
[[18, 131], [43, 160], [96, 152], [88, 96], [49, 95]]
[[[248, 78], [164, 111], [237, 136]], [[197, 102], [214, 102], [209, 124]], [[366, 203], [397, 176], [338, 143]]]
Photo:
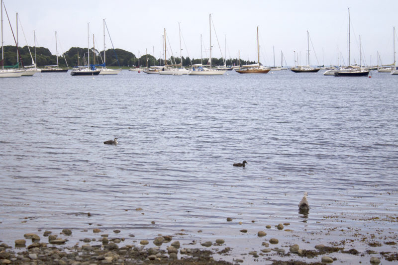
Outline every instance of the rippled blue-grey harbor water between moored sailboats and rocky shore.
[[[0, 82], [0, 240], [7, 244], [38, 229], [100, 227], [138, 242], [158, 234], [223, 238], [236, 243], [238, 257], [260, 249], [265, 225], [281, 222], [310, 241], [300, 239], [303, 248], [344, 239], [341, 231], [322, 234], [332, 227], [347, 237], [353, 228], [398, 233], [397, 76], [122, 71]], [[117, 146], [103, 144], [114, 137]], [[243, 160], [246, 168], [232, 167]], [[305, 217], [298, 213], [304, 191]]]

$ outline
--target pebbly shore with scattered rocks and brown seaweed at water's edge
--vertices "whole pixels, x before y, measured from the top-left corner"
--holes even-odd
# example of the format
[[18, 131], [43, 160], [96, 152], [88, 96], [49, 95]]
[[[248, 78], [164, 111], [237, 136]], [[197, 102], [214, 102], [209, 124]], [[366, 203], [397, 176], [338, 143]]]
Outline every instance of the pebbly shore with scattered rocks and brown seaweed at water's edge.
[[[230, 219], [230, 218], [229, 218]], [[227, 219], [228, 222], [230, 220]], [[273, 227], [267, 225], [266, 231], [272, 233], [292, 232], [286, 229], [289, 223], [280, 223]], [[267, 232], [258, 231], [256, 239], [261, 246], [258, 250], [241, 252], [237, 241], [226, 243], [224, 239], [193, 240], [187, 242], [179, 235], [158, 235], [151, 240], [136, 240], [133, 234], [128, 238], [117, 237], [120, 230], [106, 231], [99, 228], [76, 231], [41, 231], [27, 233], [23, 238], [15, 239], [14, 246], [0, 244], [0, 264], [15, 265], [135, 265], [135, 264], [170, 264], [170, 265], [320, 265], [320, 264], [372, 264], [381, 261], [386, 264], [398, 262], [398, 252], [376, 252], [369, 248], [359, 252], [355, 248], [346, 248], [344, 244], [317, 244], [312, 249], [302, 249], [299, 244], [286, 243], [286, 238], [267, 237]], [[201, 231], [198, 231], [200, 233]], [[240, 233], [247, 234], [247, 229]], [[179, 238], [184, 240], [180, 243]], [[200, 238], [200, 237], [199, 237]], [[299, 241], [299, 240], [298, 240]], [[304, 241], [301, 239], [301, 242]], [[395, 248], [396, 242], [385, 243]], [[307, 246], [304, 245], [303, 246]], [[370, 246], [374, 247], [374, 246]], [[239, 252], [239, 254], [237, 254]], [[347, 258], [349, 256], [349, 258]], [[346, 257], [342, 259], [341, 257]], [[391, 263], [390, 263], [391, 262]], [[383, 263], [385, 264], [385, 263]]]

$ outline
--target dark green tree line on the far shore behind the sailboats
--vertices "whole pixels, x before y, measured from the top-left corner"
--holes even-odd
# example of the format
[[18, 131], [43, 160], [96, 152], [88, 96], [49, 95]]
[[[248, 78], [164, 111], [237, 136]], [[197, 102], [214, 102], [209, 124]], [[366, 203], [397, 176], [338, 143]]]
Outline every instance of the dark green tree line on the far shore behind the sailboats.
[[[57, 56], [51, 54], [50, 50], [44, 47], [18, 47], [19, 54], [22, 59], [23, 65], [32, 65], [32, 54], [33, 60], [36, 61], [37, 67], [44, 67], [45, 65], [56, 65]], [[30, 49], [30, 53], [29, 53]], [[35, 53], [36, 49], [36, 53]], [[3, 47], [4, 52], [4, 66], [11, 66], [17, 63], [17, 50], [15, 46], [7, 45]], [[95, 56], [94, 56], [95, 54]], [[90, 49], [90, 64], [102, 64], [104, 57], [103, 51], [98, 51], [97, 49]], [[108, 49], [105, 51], [106, 56], [106, 66], [108, 67], [146, 67], [148, 58], [148, 67], [150, 66], [161, 66], [165, 65], [164, 60], [160, 58], [154, 58], [152, 55], [144, 54], [141, 57], [136, 57], [135, 54], [122, 50], [122, 49]], [[58, 56], [58, 64], [60, 67], [74, 67], [79, 65], [87, 65], [88, 49], [80, 47], [72, 47], [67, 52]], [[95, 62], [94, 62], [95, 60]], [[203, 58], [203, 60], [183, 57], [183, 66], [189, 66], [193, 64], [208, 64], [208, 58]], [[20, 62], [19, 62], [20, 63]], [[167, 65], [180, 64], [181, 59], [179, 57], [170, 57], [167, 59]], [[240, 65], [254, 64], [252, 61], [240, 60]], [[224, 65], [224, 60], [222, 58], [212, 58], [211, 64]], [[227, 59], [226, 65], [234, 66], [239, 65], [239, 60]]]

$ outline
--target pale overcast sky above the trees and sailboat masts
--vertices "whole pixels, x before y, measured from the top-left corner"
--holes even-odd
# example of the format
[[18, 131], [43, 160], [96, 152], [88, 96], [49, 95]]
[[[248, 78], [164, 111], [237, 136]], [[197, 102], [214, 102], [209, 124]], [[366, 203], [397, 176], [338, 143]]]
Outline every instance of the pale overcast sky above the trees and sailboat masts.
[[[295, 65], [295, 54], [298, 64], [306, 65], [307, 31], [311, 65], [347, 64], [350, 8], [351, 64], [354, 60], [359, 64], [361, 36], [366, 64], [376, 65], [378, 52], [383, 64], [393, 63], [393, 26], [398, 31], [397, 0], [3, 1], [14, 33], [18, 12], [19, 46], [26, 45], [21, 27], [29, 46], [34, 45], [35, 30], [36, 46], [49, 48], [52, 54], [56, 53], [55, 31], [59, 54], [71, 47], [87, 47], [88, 35], [93, 46], [93, 34], [96, 48], [103, 50], [102, 21], [105, 19], [114, 47], [137, 57], [146, 54], [146, 49], [156, 58], [163, 57], [164, 28], [168, 57], [171, 51], [180, 56], [180, 24], [182, 55], [206, 58], [211, 13], [213, 58], [225, 57], [225, 53], [227, 58], [237, 58], [239, 52], [241, 59], [257, 61], [258, 26], [260, 61], [264, 65], [274, 65], [274, 49], [276, 66], [281, 65], [281, 51], [284, 65]], [[396, 54], [397, 39], [396, 35]], [[15, 45], [4, 10], [3, 41], [4, 45]], [[107, 33], [105, 44], [106, 49], [112, 47]]]

